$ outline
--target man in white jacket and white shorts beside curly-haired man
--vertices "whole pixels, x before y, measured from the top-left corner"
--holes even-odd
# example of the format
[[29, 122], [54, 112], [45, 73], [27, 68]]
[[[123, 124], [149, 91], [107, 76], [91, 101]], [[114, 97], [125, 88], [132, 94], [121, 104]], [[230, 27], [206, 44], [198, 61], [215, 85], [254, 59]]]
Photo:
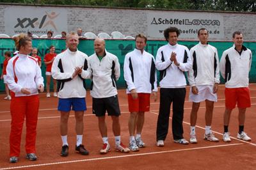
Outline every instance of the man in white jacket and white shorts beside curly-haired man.
[[215, 47], [207, 43], [208, 31], [205, 28], [198, 30], [200, 42], [191, 48], [191, 60], [193, 69], [189, 71], [188, 81], [191, 86], [189, 101], [193, 102], [190, 114], [190, 143], [196, 140], [196, 118], [200, 102], [205, 101], [205, 134], [207, 141], [219, 140], [211, 131], [212, 111], [214, 102], [217, 102], [218, 84], [220, 83], [220, 66], [218, 52]]

